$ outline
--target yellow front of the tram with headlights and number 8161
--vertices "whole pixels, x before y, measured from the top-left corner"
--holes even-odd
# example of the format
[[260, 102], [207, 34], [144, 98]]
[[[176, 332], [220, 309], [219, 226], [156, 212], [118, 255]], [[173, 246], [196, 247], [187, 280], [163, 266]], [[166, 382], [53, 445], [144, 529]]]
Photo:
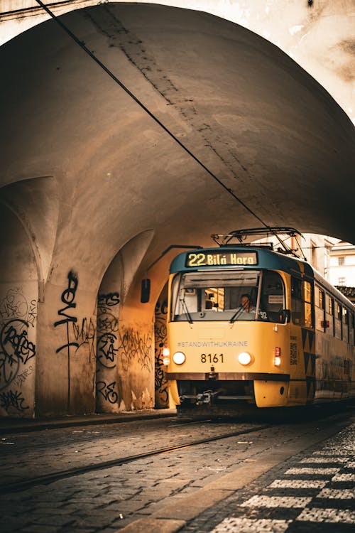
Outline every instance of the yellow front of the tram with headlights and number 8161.
[[181, 413], [288, 404], [290, 291], [279, 255], [240, 247], [174, 259], [167, 377]]

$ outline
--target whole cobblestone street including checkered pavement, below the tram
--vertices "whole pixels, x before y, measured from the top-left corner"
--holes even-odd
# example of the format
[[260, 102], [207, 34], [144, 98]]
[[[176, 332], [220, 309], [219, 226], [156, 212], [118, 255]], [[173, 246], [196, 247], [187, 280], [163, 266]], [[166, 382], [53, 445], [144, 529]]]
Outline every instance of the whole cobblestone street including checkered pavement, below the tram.
[[[282, 532], [310, 531], [323, 521], [334, 527], [337, 517], [337, 527], [345, 531], [355, 521], [353, 431], [349, 419], [323, 413], [282, 424], [191, 424], [170, 418], [4, 435], [1, 529]], [[239, 434], [65, 474], [73, 467], [231, 432]], [[63, 475], [54, 483], [37, 481], [26, 490], [11, 490], [19, 480], [58, 471]]]

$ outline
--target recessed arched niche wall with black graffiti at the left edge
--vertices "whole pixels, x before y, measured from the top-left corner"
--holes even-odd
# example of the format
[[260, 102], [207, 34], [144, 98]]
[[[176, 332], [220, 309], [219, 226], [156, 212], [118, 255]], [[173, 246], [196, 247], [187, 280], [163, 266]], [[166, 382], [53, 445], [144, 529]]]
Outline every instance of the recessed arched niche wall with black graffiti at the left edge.
[[38, 275], [18, 217], [0, 209], [0, 416], [34, 415]]

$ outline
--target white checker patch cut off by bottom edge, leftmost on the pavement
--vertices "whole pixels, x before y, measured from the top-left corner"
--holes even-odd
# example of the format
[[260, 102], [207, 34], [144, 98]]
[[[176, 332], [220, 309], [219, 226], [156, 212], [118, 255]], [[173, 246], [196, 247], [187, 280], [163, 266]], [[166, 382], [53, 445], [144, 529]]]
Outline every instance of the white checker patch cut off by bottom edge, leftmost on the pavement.
[[211, 533], [283, 533], [291, 520], [226, 518]]

